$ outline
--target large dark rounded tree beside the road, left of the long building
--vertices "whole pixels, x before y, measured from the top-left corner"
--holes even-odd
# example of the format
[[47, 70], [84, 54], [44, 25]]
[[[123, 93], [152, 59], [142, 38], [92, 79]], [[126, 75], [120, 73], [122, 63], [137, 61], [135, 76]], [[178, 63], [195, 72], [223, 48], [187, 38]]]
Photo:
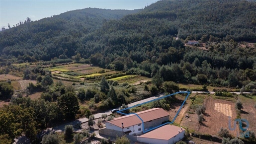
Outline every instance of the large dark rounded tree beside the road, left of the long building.
[[75, 119], [79, 110], [78, 99], [73, 92], [68, 92], [58, 98], [58, 106], [66, 116], [66, 119]]

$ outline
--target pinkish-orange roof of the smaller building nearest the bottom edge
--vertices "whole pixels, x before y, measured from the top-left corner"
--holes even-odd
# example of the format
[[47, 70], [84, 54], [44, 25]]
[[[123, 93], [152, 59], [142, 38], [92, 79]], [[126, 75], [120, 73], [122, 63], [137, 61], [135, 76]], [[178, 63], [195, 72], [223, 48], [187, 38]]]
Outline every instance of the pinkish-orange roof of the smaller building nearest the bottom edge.
[[185, 129], [182, 129], [180, 127], [177, 126], [173, 126], [173, 125], [165, 125], [163, 127], [160, 127], [156, 130], [153, 130], [151, 132], [148, 132], [144, 135], [141, 135], [139, 137], [142, 138], [152, 138], [152, 139], [161, 139], [161, 140], [170, 140], [172, 137], [176, 136], [179, 132], [183, 132], [185, 131]]

